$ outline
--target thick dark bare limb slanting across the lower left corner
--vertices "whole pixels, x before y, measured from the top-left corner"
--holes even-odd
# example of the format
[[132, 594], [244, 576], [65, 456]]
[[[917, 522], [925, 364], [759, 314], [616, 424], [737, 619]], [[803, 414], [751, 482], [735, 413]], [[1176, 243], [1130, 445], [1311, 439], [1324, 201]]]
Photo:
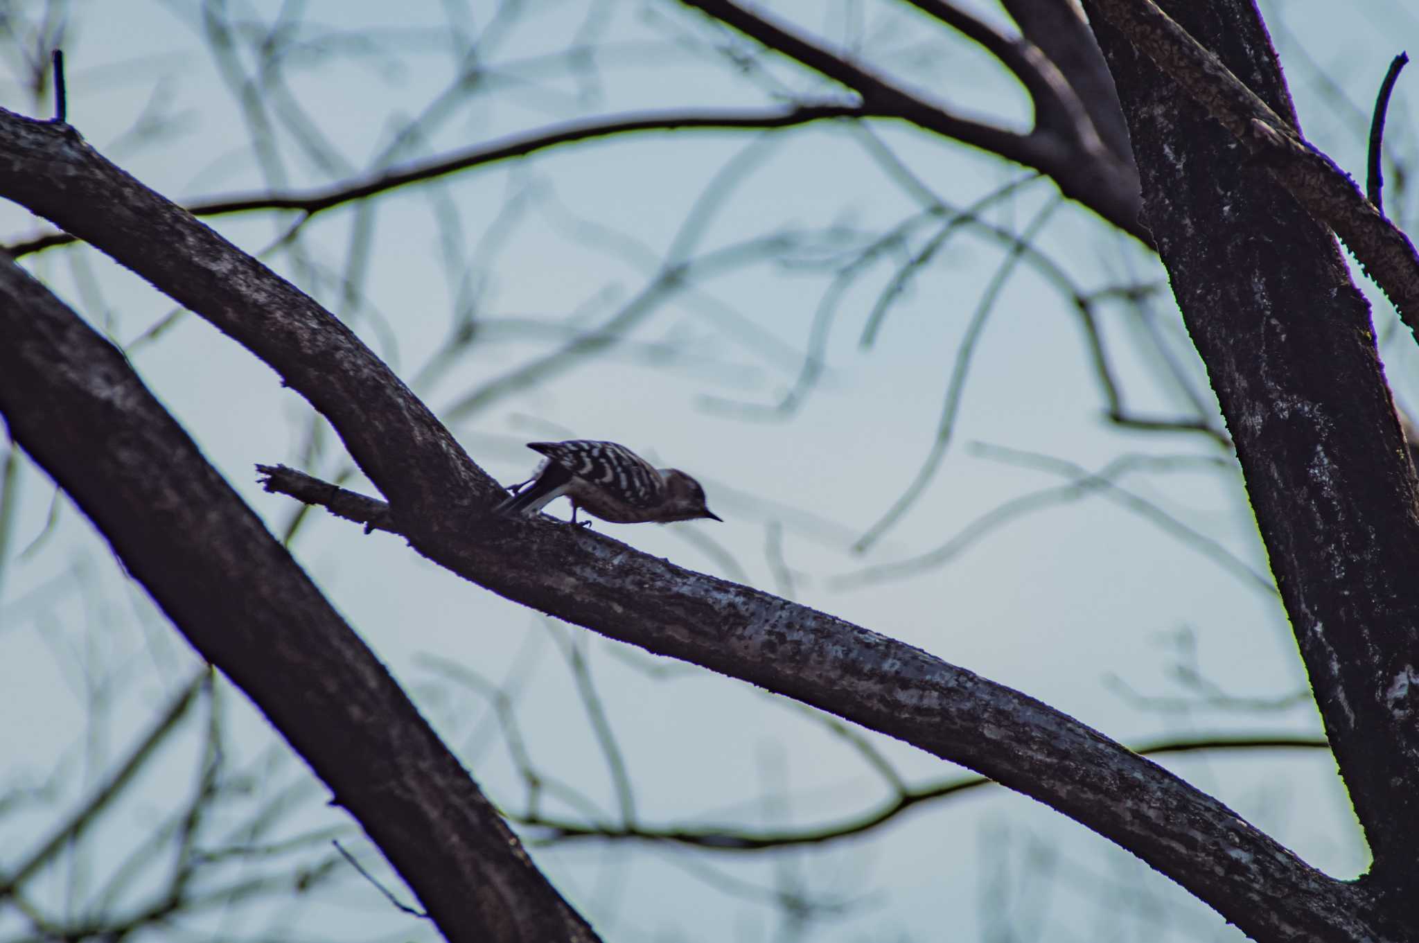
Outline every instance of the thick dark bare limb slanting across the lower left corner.
[[10, 434], [329, 786], [444, 937], [593, 940], [385, 666], [123, 355], [7, 258], [0, 336]]

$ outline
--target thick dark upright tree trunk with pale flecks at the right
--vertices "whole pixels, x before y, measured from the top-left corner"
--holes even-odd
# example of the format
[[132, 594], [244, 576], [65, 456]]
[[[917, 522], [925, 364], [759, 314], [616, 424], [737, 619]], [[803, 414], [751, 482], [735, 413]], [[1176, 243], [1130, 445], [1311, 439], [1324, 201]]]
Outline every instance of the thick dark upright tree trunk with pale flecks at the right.
[[[1330, 231], [1086, 4], [1142, 167], [1145, 221], [1236, 441], [1246, 486], [1374, 866], [1419, 900], [1419, 512], [1369, 308]], [[1284, 119], [1244, 0], [1165, 9]], [[1410, 925], [1413, 926], [1413, 925]]]

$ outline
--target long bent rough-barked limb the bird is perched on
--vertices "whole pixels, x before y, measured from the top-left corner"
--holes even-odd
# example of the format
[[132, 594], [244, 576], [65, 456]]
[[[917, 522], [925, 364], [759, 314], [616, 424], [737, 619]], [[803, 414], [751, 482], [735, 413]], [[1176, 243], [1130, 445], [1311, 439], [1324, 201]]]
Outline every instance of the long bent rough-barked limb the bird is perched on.
[[0, 194], [111, 252], [277, 369], [390, 498], [393, 525], [451, 571], [962, 763], [1118, 842], [1249, 932], [1399, 939], [1375, 923], [1362, 889], [1032, 698], [599, 533], [487, 519], [501, 492], [343, 325], [72, 135], [0, 112]]

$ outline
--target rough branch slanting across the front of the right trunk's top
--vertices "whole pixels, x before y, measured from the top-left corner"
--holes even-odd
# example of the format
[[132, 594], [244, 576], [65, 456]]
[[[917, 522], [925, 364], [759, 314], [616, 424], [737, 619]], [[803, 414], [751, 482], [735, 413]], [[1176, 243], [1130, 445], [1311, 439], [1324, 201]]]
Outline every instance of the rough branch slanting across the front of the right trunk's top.
[[[1419, 254], [1348, 173], [1301, 138], [1152, 0], [1091, 0], [1128, 41], [1208, 109], [1315, 220], [1335, 230], [1419, 339]], [[1270, 44], [1267, 44], [1270, 48]]]

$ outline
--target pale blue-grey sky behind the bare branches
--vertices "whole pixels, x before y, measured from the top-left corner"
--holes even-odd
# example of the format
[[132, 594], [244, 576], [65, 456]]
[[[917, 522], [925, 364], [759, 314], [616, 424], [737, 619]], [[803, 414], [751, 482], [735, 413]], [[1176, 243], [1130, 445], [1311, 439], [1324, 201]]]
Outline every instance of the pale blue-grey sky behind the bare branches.
[[[18, 6], [30, 16], [37, 10]], [[270, 21], [280, 6], [245, 3], [233, 10]], [[504, 24], [487, 55], [485, 88], [453, 98], [427, 139], [403, 159], [573, 118], [769, 104], [759, 87], [711, 52], [677, 45], [684, 37], [702, 41], [705, 33], [697, 14], [674, 3], [593, 3], [610, 11], [596, 28], [583, 3], [525, 6], [524, 18]], [[885, 16], [894, 9], [888, 4], [826, 6], [830, 13], [816, 18], [805, 13], [816, 4], [771, 9], [830, 40], [851, 38], [870, 61], [880, 50], [904, 62], [908, 54], [920, 57], [925, 65], [911, 74], [929, 81], [932, 91], [948, 89], [938, 94], [954, 106], [1026, 121], [1022, 96], [988, 60], [962, 51], [920, 17]], [[467, 26], [478, 33], [492, 7], [480, 0], [473, 9]], [[409, 17], [402, 20], [392, 10], [363, 0], [305, 4], [302, 35], [312, 43], [287, 65], [291, 99], [271, 99], [278, 129], [267, 140], [280, 155], [274, 173], [284, 186], [319, 187], [359, 174], [389, 146], [392, 129], [446, 89], [454, 31], [443, 4], [400, 4], [400, 16]], [[1371, 96], [1389, 57], [1419, 40], [1419, 18], [1382, 0], [1269, 3], [1264, 13], [1303, 126], [1362, 176]], [[203, 30], [194, 3], [89, 1], [74, 6], [65, 41], [70, 121], [99, 150], [176, 200], [267, 186], [241, 104], [220, 78]], [[494, 30], [502, 27], [494, 21]], [[375, 35], [385, 48], [363, 45]], [[573, 40], [603, 50], [595, 75], [579, 77], [548, 58]], [[14, 50], [9, 54], [14, 60]], [[1334, 88], [1308, 62], [1323, 67]], [[250, 71], [251, 60], [244, 58], [241, 68]], [[771, 71], [788, 91], [815, 88], [782, 62], [772, 62]], [[1412, 79], [1401, 79], [1389, 122], [1393, 153], [1406, 157], [1415, 153], [1413, 95], [1405, 91]], [[1340, 94], [1358, 104], [1359, 132]], [[35, 108], [13, 79], [0, 84], [0, 104], [23, 112]], [[162, 136], [131, 135], [145, 115], [170, 121]], [[302, 140], [284, 123], [287, 118], [318, 133]], [[920, 132], [887, 125], [873, 132], [954, 206], [1023, 176], [1017, 167]], [[420, 393], [499, 479], [519, 481], [532, 468], [538, 457], [522, 448], [525, 441], [609, 438], [700, 478], [711, 506], [725, 518], [722, 525], [597, 525], [616, 539], [920, 645], [1125, 743], [1227, 730], [1317, 732], [1308, 705], [1253, 715], [1159, 710], [1125, 695], [1125, 688], [1155, 696], [1195, 693], [1178, 681], [1178, 665], [1191, 664], [1193, 655], [1209, 683], [1239, 696], [1277, 698], [1304, 681], [1276, 598], [1240, 566], [1199, 550], [1199, 542], [1210, 542], [1237, 564], [1266, 570], [1235, 475], [1196, 461], [1121, 479], [1196, 537], [1179, 539], [1135, 509], [1095, 495], [1013, 520], [946, 566], [870, 584], [840, 581], [925, 553], [1003, 502], [1067, 481], [1006, 464], [999, 450], [978, 444], [1039, 452], [1091, 471], [1132, 452], [1218, 455], [1200, 438], [1125, 434], [1108, 425], [1069, 301], [1022, 267], [982, 333], [944, 465], [901, 523], [867, 553], [853, 553], [853, 542], [890, 508], [931, 447], [962, 332], [1002, 260], [995, 242], [954, 237], [891, 311], [870, 349], [858, 340], [894, 257], [843, 294], [824, 337], [815, 335], [815, 318], [832, 272], [810, 264], [830, 248], [820, 240], [813, 251], [805, 247], [795, 265], [763, 260], [708, 274], [692, 291], [650, 309], [629, 343], [454, 413], [471, 391], [612, 319], [654, 278], [671, 247], [680, 258], [697, 258], [735, 241], [829, 224], [844, 233], [883, 233], [912, 213], [910, 197], [883, 173], [861, 136], [847, 129], [817, 126], [753, 142], [746, 133], [715, 132], [561, 147], [370, 204], [372, 238], [363, 261], [353, 265], [352, 210], [309, 223], [304, 258], [278, 252], [264, 258], [341, 313], [409, 381], [446, 342], [450, 312], [473, 299], [482, 333]], [[717, 189], [702, 200], [712, 180]], [[1034, 182], [989, 216], [1019, 231], [1053, 196], [1049, 183]], [[1391, 199], [1391, 214], [1401, 218], [1413, 207], [1412, 199], [1408, 207], [1398, 194]], [[697, 206], [704, 225], [685, 240], [677, 234]], [[0, 223], [7, 241], [43, 228], [13, 207], [0, 210]], [[241, 247], [261, 252], [291, 218], [261, 214], [213, 223]], [[920, 248], [921, 234], [929, 231], [920, 230], [912, 245]], [[1054, 211], [1039, 244], [1084, 289], [1164, 277], [1156, 260], [1071, 204]], [[448, 252], [457, 260], [454, 275]], [[173, 311], [170, 301], [91, 251], [50, 251], [26, 264], [123, 345]], [[358, 272], [355, 298], [363, 303], [352, 305], [342, 294], [349, 271]], [[1374, 296], [1368, 284], [1362, 288]], [[1376, 312], [1384, 332], [1388, 308]], [[1162, 330], [1178, 329], [1166, 294], [1154, 313]], [[1137, 330], [1128, 315], [1105, 308], [1101, 323], [1134, 407], [1152, 414], [1183, 408], [1154, 379], [1156, 364], [1131, 343]], [[776, 404], [793, 389], [805, 352], [819, 343], [822, 376], [800, 408], [779, 415], [742, 408]], [[345, 468], [328, 430], [318, 457], [305, 455], [305, 403], [197, 318], [177, 319], [131, 355], [145, 381], [272, 532], [280, 535], [295, 509], [257, 486], [254, 464], [298, 464], [326, 478]], [[1198, 380], [1200, 366], [1193, 360], [1182, 367]], [[1386, 366], [1396, 393], [1412, 404], [1419, 403], [1415, 364], [1401, 335], [1386, 349]], [[350, 486], [369, 491], [359, 478]], [[31, 547], [45, 532], [53, 486], [26, 461], [20, 488], [0, 584], [0, 713], [26, 722], [0, 727], [6, 757], [0, 798], [60, 770], [61, 800], [72, 804], [91, 791], [105, 760], [142, 736], [196, 661], [68, 503], [60, 503], [55, 526]], [[565, 505], [549, 510], [568, 513]], [[568, 647], [589, 659], [643, 824], [809, 825], [863, 814], [885, 794], [861, 756], [796, 705], [578, 627], [548, 624], [420, 560], [397, 537], [363, 536], [314, 512], [292, 550], [507, 810], [524, 808], [518, 767], [487, 702], [451, 681], [457, 669], [509, 685], [521, 736], [538, 767], [573, 786], [607, 821], [619, 814], [607, 760], [568, 666]], [[667, 669], [666, 676], [651, 669]], [[87, 719], [85, 678], [109, 679], [111, 701], [96, 718]], [[254, 764], [253, 803], [309, 780], [298, 761], [271, 759], [282, 756], [284, 744], [231, 685], [223, 682], [221, 695], [233, 730], [230, 759]], [[51, 869], [31, 896], [55, 912], [67, 899], [82, 910], [82, 889], [101, 886], [158, 815], [192, 788], [200, 733], [201, 723], [190, 719], [121, 814], [101, 825], [101, 839], [87, 847], [82, 866]], [[883, 737], [871, 742], [910, 783], [961, 773]], [[1328, 756], [1213, 756], [1168, 766], [1327, 872], [1349, 876], [1364, 868], [1365, 852]], [[278, 834], [348, 822], [324, 798], [318, 783], [307, 786]], [[580, 814], [556, 796], [545, 801], [548, 813]], [[67, 807], [37, 804], [0, 818], [0, 874], [48, 834]], [[362, 837], [346, 831], [345, 844], [387, 879], [387, 868]], [[316, 848], [302, 861], [325, 854], [328, 848]], [[1016, 929], [1039, 940], [1083, 939], [1101, 927], [1132, 937], [1144, 920], [1151, 920], [1148, 932], [1159, 940], [1237, 936], [1130, 855], [1003, 790], [937, 803], [864, 838], [810, 851], [734, 856], [585, 842], [534, 848], [534, 856], [597, 930], [616, 940], [792, 939], [793, 927], [772, 906], [775, 891], [789, 888], [849, 903], [841, 915], [802, 927], [797, 939], [809, 940], [978, 939], [1002, 912], [1025, 920]], [[135, 872], [135, 888], [152, 886], [158, 874]], [[135, 891], [125, 899], [138, 898]], [[274, 900], [183, 926], [241, 937], [280, 930], [289, 939], [433, 933], [353, 875], [338, 888], [304, 898], [280, 893]], [[1032, 913], [1042, 926], [1027, 923]], [[13, 910], [0, 908], [0, 939], [20, 926]]]

